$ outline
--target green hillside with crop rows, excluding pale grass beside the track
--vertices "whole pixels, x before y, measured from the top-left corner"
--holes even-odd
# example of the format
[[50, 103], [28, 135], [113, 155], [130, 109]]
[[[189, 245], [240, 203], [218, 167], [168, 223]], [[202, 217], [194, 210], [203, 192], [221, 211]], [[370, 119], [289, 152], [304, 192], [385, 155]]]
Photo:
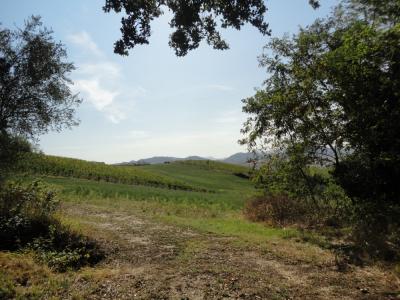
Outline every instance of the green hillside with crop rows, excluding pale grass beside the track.
[[206, 214], [237, 211], [255, 193], [250, 180], [238, 176], [248, 169], [219, 162], [110, 166], [31, 154], [18, 169], [29, 179], [40, 175], [66, 199], [128, 199], [180, 207], [178, 211], [196, 207]]

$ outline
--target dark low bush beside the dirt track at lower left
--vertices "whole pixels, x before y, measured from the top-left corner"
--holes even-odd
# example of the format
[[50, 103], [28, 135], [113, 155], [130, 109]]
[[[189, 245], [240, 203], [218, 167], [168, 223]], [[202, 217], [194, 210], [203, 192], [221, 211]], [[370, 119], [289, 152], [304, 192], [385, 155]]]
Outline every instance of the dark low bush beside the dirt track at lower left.
[[54, 192], [39, 181], [3, 185], [0, 191], [0, 249], [33, 249], [52, 268], [65, 271], [93, 265], [104, 253], [95, 241], [62, 225]]

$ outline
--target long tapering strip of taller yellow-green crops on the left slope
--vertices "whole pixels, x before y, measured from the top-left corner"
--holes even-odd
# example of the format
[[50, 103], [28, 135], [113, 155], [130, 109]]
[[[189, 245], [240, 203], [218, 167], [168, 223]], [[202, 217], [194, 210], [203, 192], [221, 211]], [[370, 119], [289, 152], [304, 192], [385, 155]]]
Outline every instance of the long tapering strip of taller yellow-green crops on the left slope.
[[32, 175], [75, 177], [112, 183], [148, 185], [187, 191], [204, 191], [204, 189], [172, 180], [166, 176], [152, 174], [136, 167], [110, 166], [100, 162], [89, 162], [80, 159], [29, 152], [20, 155], [15, 166], [15, 171]]

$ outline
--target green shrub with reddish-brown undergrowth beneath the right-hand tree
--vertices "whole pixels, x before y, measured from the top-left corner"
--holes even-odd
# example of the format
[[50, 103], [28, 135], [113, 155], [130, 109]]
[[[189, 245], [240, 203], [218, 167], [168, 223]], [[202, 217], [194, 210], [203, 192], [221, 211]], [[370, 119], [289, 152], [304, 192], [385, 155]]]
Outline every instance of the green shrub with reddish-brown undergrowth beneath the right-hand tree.
[[349, 222], [350, 200], [324, 168], [310, 167], [287, 155], [272, 155], [255, 171], [253, 180], [264, 196], [248, 202], [246, 215], [252, 220], [307, 227]]

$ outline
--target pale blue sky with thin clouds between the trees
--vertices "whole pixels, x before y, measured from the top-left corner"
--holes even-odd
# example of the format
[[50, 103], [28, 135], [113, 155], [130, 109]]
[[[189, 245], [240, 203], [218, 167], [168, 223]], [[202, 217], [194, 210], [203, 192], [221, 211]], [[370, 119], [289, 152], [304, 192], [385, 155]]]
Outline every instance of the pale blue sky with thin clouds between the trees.
[[[269, 0], [272, 36], [326, 16], [337, 0]], [[128, 57], [113, 53], [121, 15], [105, 14], [103, 1], [2, 0], [0, 22], [21, 26], [41, 15], [67, 49], [76, 70], [73, 89], [84, 99], [78, 127], [40, 137], [47, 154], [107, 163], [155, 155], [227, 157], [245, 151], [237, 140], [246, 116], [241, 99], [252, 96], [267, 74], [257, 57], [270, 37], [246, 26], [222, 30], [231, 49], [202, 44], [185, 57], [168, 46], [168, 13], [152, 25], [150, 45]]]

